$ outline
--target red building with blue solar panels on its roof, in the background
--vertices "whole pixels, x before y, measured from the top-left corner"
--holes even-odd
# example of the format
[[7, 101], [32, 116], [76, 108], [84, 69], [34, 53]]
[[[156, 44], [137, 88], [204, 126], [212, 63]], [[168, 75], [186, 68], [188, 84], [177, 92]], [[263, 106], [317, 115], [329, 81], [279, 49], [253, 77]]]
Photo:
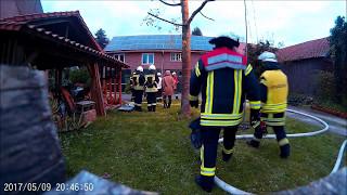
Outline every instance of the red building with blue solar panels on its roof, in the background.
[[[203, 53], [213, 50], [213, 44], [208, 43], [211, 38], [191, 37], [192, 67]], [[244, 48], [245, 44], [242, 43], [239, 49], [244, 52]], [[139, 65], [146, 69], [151, 64], [155, 64], [158, 72], [169, 69], [177, 72], [178, 76], [181, 75], [182, 36], [180, 35], [114, 37], [104, 50], [107, 54], [130, 65], [130, 68], [124, 72], [124, 78], [129, 78], [131, 70], [134, 70]]]

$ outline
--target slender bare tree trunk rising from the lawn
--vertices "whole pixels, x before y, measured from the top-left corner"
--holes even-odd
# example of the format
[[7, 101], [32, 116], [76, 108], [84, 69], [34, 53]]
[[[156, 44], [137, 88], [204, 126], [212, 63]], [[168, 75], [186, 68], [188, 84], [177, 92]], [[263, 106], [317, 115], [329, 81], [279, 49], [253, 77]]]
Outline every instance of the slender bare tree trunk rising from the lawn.
[[181, 109], [182, 115], [190, 117], [191, 107], [189, 104], [189, 82], [191, 78], [191, 29], [189, 20], [188, 0], [181, 0], [182, 2], [182, 98]]

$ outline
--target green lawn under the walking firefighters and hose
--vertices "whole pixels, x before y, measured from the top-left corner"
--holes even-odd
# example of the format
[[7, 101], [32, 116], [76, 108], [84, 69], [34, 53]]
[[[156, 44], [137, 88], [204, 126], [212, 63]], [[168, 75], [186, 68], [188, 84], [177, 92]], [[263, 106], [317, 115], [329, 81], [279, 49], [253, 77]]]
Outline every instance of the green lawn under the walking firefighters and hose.
[[[163, 194], [203, 194], [195, 185], [198, 153], [190, 145], [188, 120], [179, 120], [179, 106], [157, 113], [108, 113], [87, 129], [61, 133], [69, 178], [81, 169], [133, 188]], [[197, 110], [194, 110], [194, 115]], [[288, 119], [287, 132], [317, 127]], [[252, 131], [247, 131], [252, 133]], [[270, 132], [272, 133], [272, 132]], [[267, 193], [306, 185], [332, 170], [343, 138], [326, 133], [291, 139], [292, 156], [279, 157], [274, 140], [264, 140], [260, 150], [237, 140], [228, 164], [217, 160], [217, 176], [235, 187]], [[216, 187], [214, 194], [224, 194]]]

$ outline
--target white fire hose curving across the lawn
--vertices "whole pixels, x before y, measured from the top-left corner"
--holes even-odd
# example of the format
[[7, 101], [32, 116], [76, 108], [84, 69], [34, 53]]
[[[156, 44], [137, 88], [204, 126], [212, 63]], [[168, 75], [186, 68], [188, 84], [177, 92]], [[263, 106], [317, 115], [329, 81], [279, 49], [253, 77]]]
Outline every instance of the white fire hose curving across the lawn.
[[[298, 114], [298, 115], [301, 115], [301, 116], [305, 116], [305, 117], [312, 118], [316, 121], [319, 121], [321, 125], [324, 126], [323, 129], [318, 130], [318, 131], [306, 132], [306, 133], [292, 133], [292, 134], [287, 134], [287, 138], [313, 136], [313, 135], [317, 135], [317, 134], [324, 133], [325, 131], [329, 130], [329, 125], [324, 120], [322, 120], [322, 119], [320, 119], [320, 118], [318, 118], [316, 116], [312, 116], [312, 115], [309, 115], [309, 114], [306, 114], [306, 113], [301, 113], [301, 112], [297, 112], [297, 110], [293, 110], [293, 109], [287, 109], [287, 112], [294, 113], [294, 114]], [[236, 135], [236, 139], [252, 139], [252, 138], [253, 138], [253, 134]], [[275, 139], [275, 134], [267, 134], [266, 136], [264, 136], [264, 139]], [[223, 139], [219, 139], [218, 142], [221, 143], [222, 141], [223, 141]], [[340, 162], [342, 162], [342, 159], [343, 159], [343, 156], [344, 156], [344, 151], [346, 148], [346, 144], [347, 144], [347, 140], [345, 140], [344, 143], [340, 146], [340, 150], [339, 150], [335, 166], [334, 166], [334, 168], [333, 168], [331, 173], [336, 172], [338, 170], [338, 168], [340, 167]], [[242, 191], [240, 188], [236, 188], [236, 187], [226, 183], [223, 180], [219, 179], [217, 176], [215, 177], [215, 183], [220, 188], [222, 188], [223, 191], [226, 191], [226, 192], [228, 192], [230, 194], [252, 194], [249, 192]]]

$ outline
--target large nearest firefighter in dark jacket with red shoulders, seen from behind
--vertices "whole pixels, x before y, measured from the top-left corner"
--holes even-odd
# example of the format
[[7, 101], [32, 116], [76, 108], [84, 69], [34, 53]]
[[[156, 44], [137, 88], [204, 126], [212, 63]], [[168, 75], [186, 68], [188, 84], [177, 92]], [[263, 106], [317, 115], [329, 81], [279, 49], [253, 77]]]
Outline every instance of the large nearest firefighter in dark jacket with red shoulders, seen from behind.
[[229, 37], [209, 41], [215, 44], [211, 52], [202, 55], [192, 70], [190, 104], [201, 105], [201, 173], [195, 182], [207, 192], [214, 186], [217, 146], [223, 129], [222, 159], [229, 161], [233, 154], [235, 133], [243, 117], [245, 96], [250, 101], [250, 121], [256, 128], [260, 123], [259, 83], [246, 56], [236, 52], [240, 46]]

